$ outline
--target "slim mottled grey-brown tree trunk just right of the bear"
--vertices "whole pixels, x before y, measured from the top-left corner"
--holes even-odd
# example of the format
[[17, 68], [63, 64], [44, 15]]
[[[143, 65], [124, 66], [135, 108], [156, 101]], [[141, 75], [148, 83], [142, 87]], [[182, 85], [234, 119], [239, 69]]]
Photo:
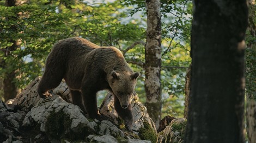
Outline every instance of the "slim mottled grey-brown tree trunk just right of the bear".
[[147, 0], [147, 44], [145, 45], [145, 106], [159, 127], [161, 120], [161, 13], [160, 0]]

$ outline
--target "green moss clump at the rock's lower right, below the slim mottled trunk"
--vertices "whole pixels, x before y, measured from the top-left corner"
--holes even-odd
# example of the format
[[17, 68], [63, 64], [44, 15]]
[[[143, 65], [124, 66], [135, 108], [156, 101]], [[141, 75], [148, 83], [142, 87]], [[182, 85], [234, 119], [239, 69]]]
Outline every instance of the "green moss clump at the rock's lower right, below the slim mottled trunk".
[[154, 129], [149, 125], [148, 122], [143, 122], [144, 128], [139, 129], [139, 138], [142, 140], [150, 140], [152, 143], [156, 142], [157, 135]]

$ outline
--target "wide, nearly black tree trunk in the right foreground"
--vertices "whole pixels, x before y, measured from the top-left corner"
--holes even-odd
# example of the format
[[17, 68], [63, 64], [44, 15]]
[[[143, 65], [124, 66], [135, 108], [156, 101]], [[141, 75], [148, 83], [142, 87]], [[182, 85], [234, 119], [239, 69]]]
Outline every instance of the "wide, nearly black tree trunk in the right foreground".
[[245, 142], [246, 0], [194, 1], [185, 142]]

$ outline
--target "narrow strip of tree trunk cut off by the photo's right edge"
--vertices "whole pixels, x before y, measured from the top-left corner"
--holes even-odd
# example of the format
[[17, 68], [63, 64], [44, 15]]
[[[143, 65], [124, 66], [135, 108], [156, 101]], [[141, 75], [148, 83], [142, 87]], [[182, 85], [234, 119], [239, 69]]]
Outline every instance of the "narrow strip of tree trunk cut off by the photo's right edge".
[[[255, 2], [249, 1], [249, 18], [248, 18], [248, 37], [256, 37], [256, 23], [255, 23]], [[246, 53], [246, 124], [247, 137], [249, 143], [256, 142], [256, 95], [255, 95], [255, 81], [256, 81], [256, 43], [255, 40], [247, 43], [248, 50]]]

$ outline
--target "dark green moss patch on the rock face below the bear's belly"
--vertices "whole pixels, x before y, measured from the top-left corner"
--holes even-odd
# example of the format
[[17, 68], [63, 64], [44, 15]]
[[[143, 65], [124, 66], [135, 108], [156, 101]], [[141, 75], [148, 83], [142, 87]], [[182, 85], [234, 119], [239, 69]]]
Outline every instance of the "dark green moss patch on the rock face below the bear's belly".
[[47, 117], [45, 123], [46, 134], [53, 139], [83, 139], [92, 131], [88, 131], [88, 128], [78, 125], [77, 133], [71, 130], [70, 126], [72, 119], [69, 118], [63, 111], [52, 111]]

